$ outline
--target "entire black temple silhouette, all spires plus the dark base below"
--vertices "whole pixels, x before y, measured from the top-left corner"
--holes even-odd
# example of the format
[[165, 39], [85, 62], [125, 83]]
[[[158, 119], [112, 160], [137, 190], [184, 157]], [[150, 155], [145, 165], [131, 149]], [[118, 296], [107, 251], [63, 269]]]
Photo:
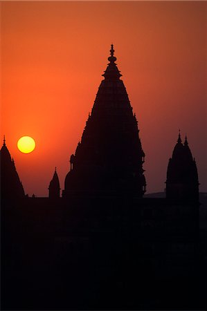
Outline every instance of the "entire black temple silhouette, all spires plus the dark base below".
[[109, 64], [60, 196], [24, 194], [1, 148], [3, 310], [203, 310], [199, 179], [181, 135], [163, 198], [145, 197], [145, 153], [116, 66]]

